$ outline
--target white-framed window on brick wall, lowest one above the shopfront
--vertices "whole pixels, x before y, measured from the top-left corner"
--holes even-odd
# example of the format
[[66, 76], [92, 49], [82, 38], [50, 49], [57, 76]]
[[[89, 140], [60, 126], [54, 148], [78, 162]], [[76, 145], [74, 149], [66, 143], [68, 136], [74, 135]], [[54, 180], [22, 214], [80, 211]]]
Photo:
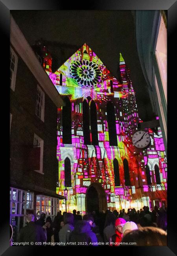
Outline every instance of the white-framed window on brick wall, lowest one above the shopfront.
[[[31, 163], [34, 166], [34, 171], [44, 174], [43, 172], [43, 152], [44, 152], [44, 141], [39, 136], [34, 134], [33, 143], [33, 158], [31, 157]], [[37, 167], [37, 168], [35, 168]]]

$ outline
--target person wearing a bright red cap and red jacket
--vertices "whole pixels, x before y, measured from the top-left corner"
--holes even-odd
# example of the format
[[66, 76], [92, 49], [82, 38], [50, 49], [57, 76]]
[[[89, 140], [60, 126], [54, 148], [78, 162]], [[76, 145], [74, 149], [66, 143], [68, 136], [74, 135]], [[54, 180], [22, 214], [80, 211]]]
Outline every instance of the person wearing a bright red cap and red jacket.
[[109, 244], [111, 246], [119, 246], [120, 242], [122, 241], [123, 237], [123, 226], [125, 225], [126, 221], [123, 218], [116, 219], [115, 222], [115, 233], [112, 237], [109, 239]]

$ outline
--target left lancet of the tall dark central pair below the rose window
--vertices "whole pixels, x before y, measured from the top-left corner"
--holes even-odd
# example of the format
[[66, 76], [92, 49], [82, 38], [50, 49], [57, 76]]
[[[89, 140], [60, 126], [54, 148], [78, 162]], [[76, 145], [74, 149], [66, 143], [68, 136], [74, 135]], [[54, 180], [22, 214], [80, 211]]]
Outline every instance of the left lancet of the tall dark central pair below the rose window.
[[89, 104], [88, 104], [87, 100], [83, 101], [82, 113], [83, 113], [83, 137], [84, 137], [84, 144], [85, 145], [90, 145]]

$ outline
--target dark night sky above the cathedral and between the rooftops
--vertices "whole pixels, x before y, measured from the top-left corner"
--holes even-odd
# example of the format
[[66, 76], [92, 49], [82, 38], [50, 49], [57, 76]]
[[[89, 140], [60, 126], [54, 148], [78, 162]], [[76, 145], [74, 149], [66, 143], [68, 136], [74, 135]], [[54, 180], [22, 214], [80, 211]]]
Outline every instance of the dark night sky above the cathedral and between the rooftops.
[[84, 43], [92, 48], [112, 74], [119, 79], [119, 53], [130, 69], [138, 113], [143, 121], [152, 113], [135, 43], [132, 11], [11, 11], [28, 43], [42, 38], [52, 54], [53, 72]]

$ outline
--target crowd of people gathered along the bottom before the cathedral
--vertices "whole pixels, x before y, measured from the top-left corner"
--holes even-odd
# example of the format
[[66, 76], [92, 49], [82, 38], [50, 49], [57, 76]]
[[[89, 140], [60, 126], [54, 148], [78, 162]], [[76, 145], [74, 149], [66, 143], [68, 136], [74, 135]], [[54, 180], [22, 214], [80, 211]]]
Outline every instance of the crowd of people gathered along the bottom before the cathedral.
[[20, 230], [18, 242], [45, 246], [166, 246], [167, 208], [148, 206], [107, 210], [80, 215], [59, 211], [54, 221], [42, 213], [35, 221], [33, 214], [26, 216], [27, 225]]

